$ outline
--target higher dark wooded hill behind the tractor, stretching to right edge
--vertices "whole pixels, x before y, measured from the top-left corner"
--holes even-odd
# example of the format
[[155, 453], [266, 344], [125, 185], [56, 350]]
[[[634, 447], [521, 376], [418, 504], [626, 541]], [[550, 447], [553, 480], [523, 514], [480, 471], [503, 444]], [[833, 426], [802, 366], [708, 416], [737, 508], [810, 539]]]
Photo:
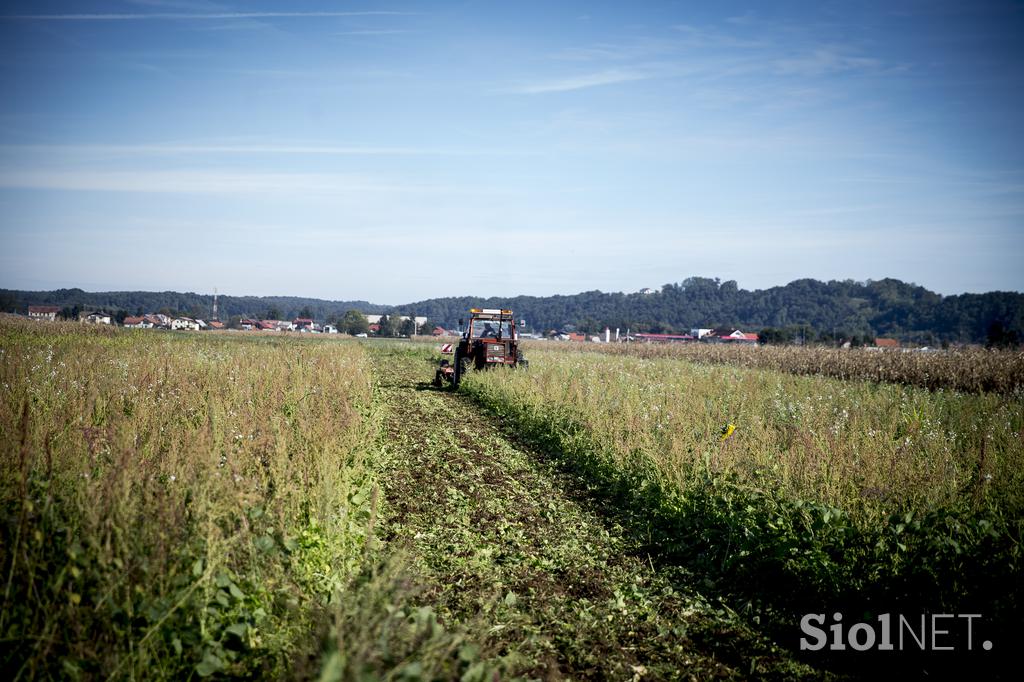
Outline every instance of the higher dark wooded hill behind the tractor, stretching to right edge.
[[653, 294], [440, 298], [399, 306], [452, 326], [470, 306], [511, 307], [531, 329], [611, 329], [680, 332], [735, 326], [744, 331], [806, 325], [817, 335], [894, 336], [924, 343], [985, 342], [993, 324], [1024, 339], [1024, 294], [989, 292], [941, 296], [899, 280], [858, 283], [798, 280], [757, 291], [735, 282], [691, 278]]

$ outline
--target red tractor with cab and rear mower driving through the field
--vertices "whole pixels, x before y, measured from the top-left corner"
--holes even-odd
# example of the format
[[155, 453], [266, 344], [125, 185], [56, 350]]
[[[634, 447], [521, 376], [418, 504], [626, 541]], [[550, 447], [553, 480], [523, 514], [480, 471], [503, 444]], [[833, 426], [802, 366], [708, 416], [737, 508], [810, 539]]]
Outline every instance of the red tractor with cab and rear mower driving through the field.
[[469, 324], [464, 326], [464, 322], [459, 321], [459, 327], [465, 327], [465, 331], [455, 348], [455, 359], [440, 361], [434, 374], [434, 386], [450, 382], [458, 388], [459, 382], [470, 370], [526, 368], [527, 361], [519, 350], [519, 335], [516, 334], [511, 310], [470, 308]]

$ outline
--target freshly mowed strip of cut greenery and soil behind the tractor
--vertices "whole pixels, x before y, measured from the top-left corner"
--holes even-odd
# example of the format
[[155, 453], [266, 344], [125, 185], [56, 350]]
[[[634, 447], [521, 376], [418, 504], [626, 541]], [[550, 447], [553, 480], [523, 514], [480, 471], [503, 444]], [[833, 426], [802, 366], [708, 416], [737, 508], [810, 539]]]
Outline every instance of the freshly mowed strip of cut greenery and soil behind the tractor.
[[631, 555], [584, 485], [431, 388], [422, 352], [373, 352], [388, 409], [382, 540], [484, 656], [545, 679], [818, 677]]

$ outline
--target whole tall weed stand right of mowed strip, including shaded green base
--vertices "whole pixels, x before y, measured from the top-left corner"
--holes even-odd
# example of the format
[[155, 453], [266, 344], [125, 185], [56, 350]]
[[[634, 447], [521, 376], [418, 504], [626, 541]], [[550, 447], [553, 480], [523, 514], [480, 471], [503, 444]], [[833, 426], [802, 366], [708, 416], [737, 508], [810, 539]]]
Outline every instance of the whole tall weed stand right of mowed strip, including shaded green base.
[[557, 348], [461, 390], [729, 592], [1018, 617], [1019, 397]]

